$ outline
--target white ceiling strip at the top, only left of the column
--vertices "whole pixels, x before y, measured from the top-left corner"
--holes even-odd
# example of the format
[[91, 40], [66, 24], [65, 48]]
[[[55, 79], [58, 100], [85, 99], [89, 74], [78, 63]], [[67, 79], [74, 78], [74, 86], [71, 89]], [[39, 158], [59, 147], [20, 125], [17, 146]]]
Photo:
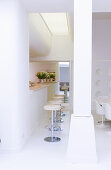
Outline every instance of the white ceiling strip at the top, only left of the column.
[[29, 12], [72, 12], [74, 0], [21, 0]]

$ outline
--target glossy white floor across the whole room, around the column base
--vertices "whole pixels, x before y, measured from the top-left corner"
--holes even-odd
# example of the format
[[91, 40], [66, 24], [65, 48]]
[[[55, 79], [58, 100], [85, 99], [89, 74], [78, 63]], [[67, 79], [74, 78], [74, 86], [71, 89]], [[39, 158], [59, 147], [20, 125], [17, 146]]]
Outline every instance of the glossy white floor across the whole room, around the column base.
[[[96, 120], [96, 119], [95, 119]], [[66, 161], [70, 115], [64, 117], [59, 143], [47, 143], [43, 139], [50, 132], [42, 122], [31, 136], [27, 145], [19, 153], [0, 154], [0, 170], [111, 170], [111, 134], [109, 129], [96, 128], [97, 165], [71, 165]]]

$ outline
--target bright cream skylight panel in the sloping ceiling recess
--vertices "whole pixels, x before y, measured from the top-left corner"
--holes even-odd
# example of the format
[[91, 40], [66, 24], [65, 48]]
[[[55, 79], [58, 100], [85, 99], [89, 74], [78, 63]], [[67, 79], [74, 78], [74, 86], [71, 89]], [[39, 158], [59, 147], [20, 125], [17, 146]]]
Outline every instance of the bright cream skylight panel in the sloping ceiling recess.
[[66, 13], [41, 13], [41, 16], [53, 35], [68, 34]]

